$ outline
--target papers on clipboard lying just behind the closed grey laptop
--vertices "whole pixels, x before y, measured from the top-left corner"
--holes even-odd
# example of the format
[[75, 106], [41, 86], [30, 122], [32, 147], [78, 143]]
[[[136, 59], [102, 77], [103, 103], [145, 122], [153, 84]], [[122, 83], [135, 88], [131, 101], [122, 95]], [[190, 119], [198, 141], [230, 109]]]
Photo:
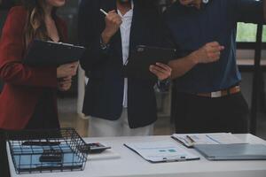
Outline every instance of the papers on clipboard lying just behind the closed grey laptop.
[[192, 148], [196, 144], [239, 144], [246, 143], [231, 133], [215, 134], [174, 134], [172, 138], [184, 146]]

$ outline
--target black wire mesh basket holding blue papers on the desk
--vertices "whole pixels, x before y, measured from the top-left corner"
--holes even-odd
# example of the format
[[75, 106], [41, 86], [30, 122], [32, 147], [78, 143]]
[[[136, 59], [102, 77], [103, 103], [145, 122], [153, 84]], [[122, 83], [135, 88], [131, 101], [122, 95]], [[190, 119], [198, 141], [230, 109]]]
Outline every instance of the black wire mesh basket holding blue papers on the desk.
[[7, 133], [16, 173], [82, 171], [88, 152], [74, 128]]

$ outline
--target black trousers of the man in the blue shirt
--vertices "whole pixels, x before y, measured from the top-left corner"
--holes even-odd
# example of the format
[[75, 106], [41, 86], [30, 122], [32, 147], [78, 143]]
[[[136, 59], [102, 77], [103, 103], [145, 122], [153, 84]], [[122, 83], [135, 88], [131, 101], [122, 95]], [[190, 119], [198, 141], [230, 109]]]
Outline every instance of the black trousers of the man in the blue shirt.
[[241, 93], [220, 98], [176, 93], [174, 99], [176, 133], [245, 134], [249, 130], [248, 105]]

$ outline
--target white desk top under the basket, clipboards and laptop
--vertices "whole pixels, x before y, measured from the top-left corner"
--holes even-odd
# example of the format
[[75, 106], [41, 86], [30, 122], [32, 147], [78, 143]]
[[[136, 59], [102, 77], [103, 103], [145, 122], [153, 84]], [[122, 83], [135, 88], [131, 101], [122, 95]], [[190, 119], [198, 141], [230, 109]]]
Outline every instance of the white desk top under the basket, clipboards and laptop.
[[[250, 143], [266, 142], [254, 135], [237, 135]], [[207, 161], [200, 160], [151, 164], [123, 146], [124, 142], [153, 142], [172, 140], [169, 136], [85, 138], [86, 142], [103, 142], [113, 147], [121, 158], [89, 160], [85, 170], [68, 173], [35, 173], [18, 175], [10, 160], [12, 177], [266, 177], [266, 161]], [[175, 141], [174, 141], [175, 142]], [[177, 142], [176, 142], [177, 143]], [[197, 153], [195, 150], [191, 150]], [[199, 154], [199, 153], [197, 153]], [[11, 159], [9, 154], [9, 159]]]

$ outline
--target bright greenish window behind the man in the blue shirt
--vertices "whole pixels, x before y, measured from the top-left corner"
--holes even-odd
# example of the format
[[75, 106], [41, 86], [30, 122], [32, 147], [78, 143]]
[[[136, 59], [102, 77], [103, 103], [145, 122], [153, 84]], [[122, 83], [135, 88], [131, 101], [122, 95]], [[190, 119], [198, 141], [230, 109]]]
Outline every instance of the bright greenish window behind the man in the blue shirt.
[[[239, 23], [237, 42], [255, 42], [256, 32], [257, 32], [257, 25]], [[266, 26], [263, 27], [262, 42], [266, 42]]]

